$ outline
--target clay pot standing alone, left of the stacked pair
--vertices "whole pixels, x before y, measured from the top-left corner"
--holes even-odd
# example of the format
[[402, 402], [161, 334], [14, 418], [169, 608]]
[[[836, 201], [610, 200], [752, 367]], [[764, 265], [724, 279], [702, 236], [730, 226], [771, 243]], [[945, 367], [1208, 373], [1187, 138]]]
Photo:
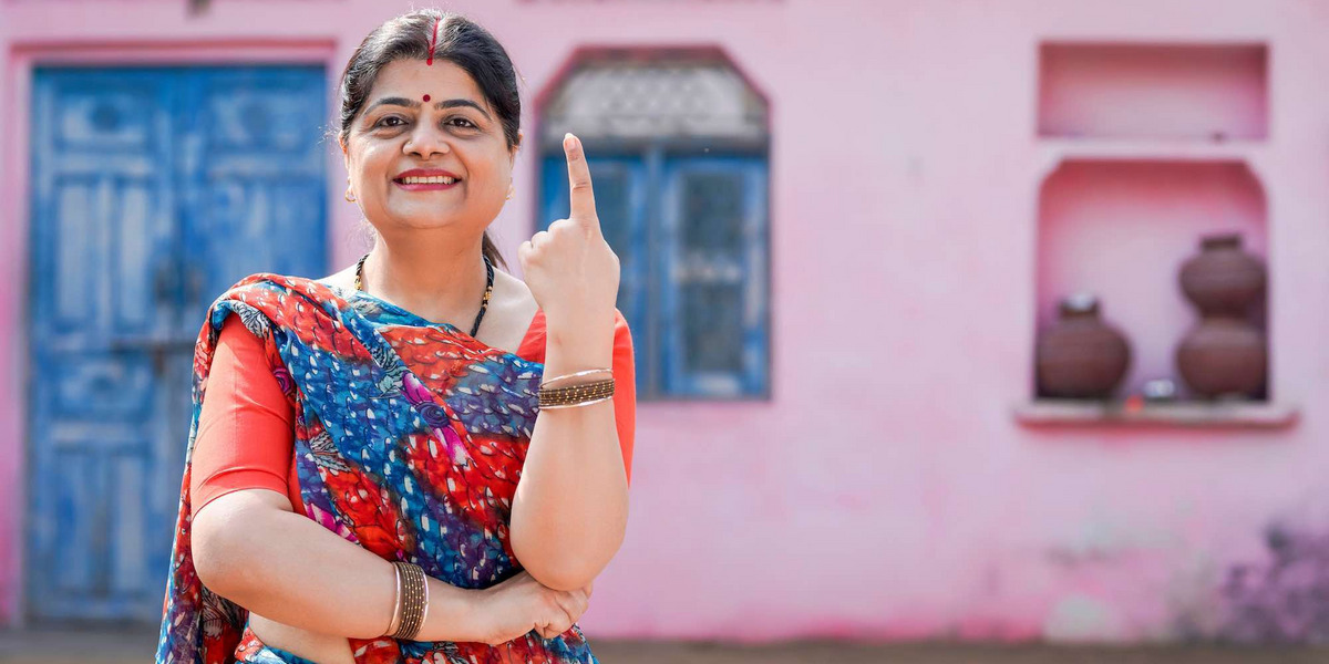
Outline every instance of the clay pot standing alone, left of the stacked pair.
[[1108, 398], [1131, 364], [1126, 336], [1099, 319], [1098, 299], [1062, 300], [1059, 320], [1035, 349], [1038, 393], [1058, 398]]

